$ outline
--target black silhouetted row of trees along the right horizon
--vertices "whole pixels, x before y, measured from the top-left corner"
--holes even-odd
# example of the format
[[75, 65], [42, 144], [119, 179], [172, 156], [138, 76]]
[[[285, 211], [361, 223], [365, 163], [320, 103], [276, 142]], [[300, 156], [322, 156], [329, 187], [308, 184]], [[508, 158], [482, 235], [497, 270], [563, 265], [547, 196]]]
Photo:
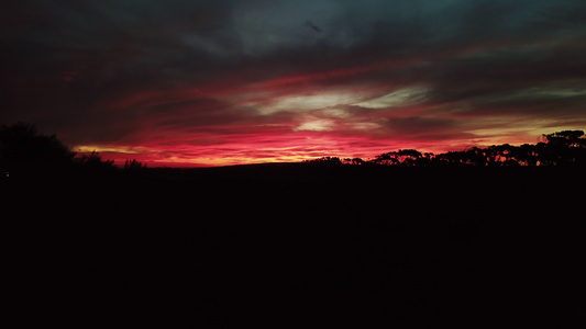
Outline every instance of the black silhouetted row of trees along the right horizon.
[[402, 166], [402, 167], [556, 167], [586, 166], [586, 138], [583, 131], [563, 131], [543, 135], [546, 141], [513, 146], [509, 144], [489, 147], [472, 147], [463, 151], [434, 155], [416, 149], [399, 149], [376, 156], [372, 160], [361, 158], [322, 157], [308, 160], [318, 164]]

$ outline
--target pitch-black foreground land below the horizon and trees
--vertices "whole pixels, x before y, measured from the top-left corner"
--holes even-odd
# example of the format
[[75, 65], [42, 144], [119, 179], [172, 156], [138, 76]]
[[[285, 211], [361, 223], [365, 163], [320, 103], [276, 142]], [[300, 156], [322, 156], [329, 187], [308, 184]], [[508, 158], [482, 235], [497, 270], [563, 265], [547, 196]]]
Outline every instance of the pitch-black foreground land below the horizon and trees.
[[584, 328], [576, 169], [273, 164], [2, 185], [2, 328]]

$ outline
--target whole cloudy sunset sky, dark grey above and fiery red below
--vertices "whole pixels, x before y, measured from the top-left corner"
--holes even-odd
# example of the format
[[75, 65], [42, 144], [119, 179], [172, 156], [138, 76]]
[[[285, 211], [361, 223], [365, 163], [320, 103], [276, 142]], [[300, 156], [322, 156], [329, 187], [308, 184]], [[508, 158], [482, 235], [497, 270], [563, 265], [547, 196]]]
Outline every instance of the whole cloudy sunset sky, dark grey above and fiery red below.
[[0, 124], [157, 166], [586, 129], [583, 0], [0, 4]]

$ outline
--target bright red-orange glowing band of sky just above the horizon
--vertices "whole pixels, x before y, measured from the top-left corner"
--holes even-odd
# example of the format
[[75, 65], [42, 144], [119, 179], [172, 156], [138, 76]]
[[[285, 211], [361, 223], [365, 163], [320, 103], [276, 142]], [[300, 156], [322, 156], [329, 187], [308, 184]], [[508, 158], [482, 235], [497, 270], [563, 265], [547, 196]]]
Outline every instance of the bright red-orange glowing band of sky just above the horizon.
[[[462, 144], [461, 140], [373, 140], [369, 137], [329, 136], [320, 134], [320, 132], [291, 134], [294, 136], [263, 136], [262, 138], [256, 136], [256, 139], [252, 138], [248, 141], [242, 140], [221, 145], [153, 144], [135, 147], [93, 145], [77, 146], [74, 150], [78, 151], [78, 155], [97, 151], [102, 159], [113, 160], [119, 166], [122, 166], [125, 160], [136, 159], [148, 167], [221, 167], [265, 162], [300, 162], [327, 156], [368, 160], [379, 154], [398, 149], [414, 148], [421, 152], [440, 154], [479, 145]], [[480, 144], [488, 145], [490, 144], [488, 141], [484, 139]]]

